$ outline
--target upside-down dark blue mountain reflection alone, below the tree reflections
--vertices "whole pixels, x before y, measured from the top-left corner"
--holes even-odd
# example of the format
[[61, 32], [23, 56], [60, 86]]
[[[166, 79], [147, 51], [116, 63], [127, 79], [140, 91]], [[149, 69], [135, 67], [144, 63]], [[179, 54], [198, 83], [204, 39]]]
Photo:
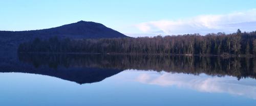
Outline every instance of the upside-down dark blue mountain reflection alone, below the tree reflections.
[[[13, 66], [16, 67], [16, 66]], [[27, 66], [29, 67], [29, 66]], [[111, 77], [123, 70], [119, 69], [101, 69], [101, 68], [60, 68], [58, 70], [53, 70], [49, 68], [32, 68], [33, 70], [26, 70], [28, 68], [16, 67], [16, 70], [0, 70], [0, 73], [31, 73], [47, 75], [52, 77], [58, 77], [62, 80], [67, 80], [71, 82], [76, 82], [77, 84], [87, 84], [96, 83], [103, 81], [107, 77]], [[0, 66], [0, 68], [2, 68]], [[30, 67], [31, 68], [31, 67]]]

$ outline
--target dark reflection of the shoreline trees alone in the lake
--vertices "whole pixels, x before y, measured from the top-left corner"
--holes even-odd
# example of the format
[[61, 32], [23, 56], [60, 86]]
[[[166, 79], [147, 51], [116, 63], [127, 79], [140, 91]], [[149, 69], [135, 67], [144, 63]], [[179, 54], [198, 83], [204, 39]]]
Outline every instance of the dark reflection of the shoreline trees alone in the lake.
[[256, 78], [255, 58], [189, 57], [164, 55], [82, 55], [82, 54], [18, 54], [19, 61], [34, 67], [138, 69], [188, 74]]

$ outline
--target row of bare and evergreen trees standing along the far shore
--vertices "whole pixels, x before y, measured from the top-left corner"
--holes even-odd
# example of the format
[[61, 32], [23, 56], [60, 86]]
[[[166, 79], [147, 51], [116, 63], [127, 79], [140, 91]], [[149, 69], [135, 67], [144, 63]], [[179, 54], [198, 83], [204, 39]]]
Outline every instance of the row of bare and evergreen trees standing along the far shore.
[[36, 38], [19, 45], [18, 52], [83, 52], [115, 54], [256, 55], [256, 32], [186, 34], [112, 39]]

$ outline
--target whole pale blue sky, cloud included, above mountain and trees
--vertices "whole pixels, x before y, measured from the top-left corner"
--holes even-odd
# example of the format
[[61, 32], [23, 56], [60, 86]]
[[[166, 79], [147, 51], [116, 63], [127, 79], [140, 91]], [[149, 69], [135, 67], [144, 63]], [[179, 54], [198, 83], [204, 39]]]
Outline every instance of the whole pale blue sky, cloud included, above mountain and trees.
[[[3, 1], [0, 30], [46, 29], [79, 20], [121, 33], [184, 34], [256, 29], [256, 1]], [[226, 18], [228, 17], [228, 18]], [[255, 22], [256, 23], [256, 22]], [[143, 34], [143, 35], [140, 35]]]

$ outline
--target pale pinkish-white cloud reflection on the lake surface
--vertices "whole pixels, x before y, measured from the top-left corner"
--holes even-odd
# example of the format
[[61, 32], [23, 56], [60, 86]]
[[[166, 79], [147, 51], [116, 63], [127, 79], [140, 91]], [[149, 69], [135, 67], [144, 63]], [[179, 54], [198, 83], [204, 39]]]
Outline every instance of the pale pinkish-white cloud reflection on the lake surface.
[[205, 74], [191, 75], [183, 73], [154, 72], [143, 73], [137, 76], [136, 81], [144, 84], [159, 86], [177, 86], [194, 89], [200, 92], [229, 93], [256, 99], [255, 80], [225, 76], [207, 76]]

